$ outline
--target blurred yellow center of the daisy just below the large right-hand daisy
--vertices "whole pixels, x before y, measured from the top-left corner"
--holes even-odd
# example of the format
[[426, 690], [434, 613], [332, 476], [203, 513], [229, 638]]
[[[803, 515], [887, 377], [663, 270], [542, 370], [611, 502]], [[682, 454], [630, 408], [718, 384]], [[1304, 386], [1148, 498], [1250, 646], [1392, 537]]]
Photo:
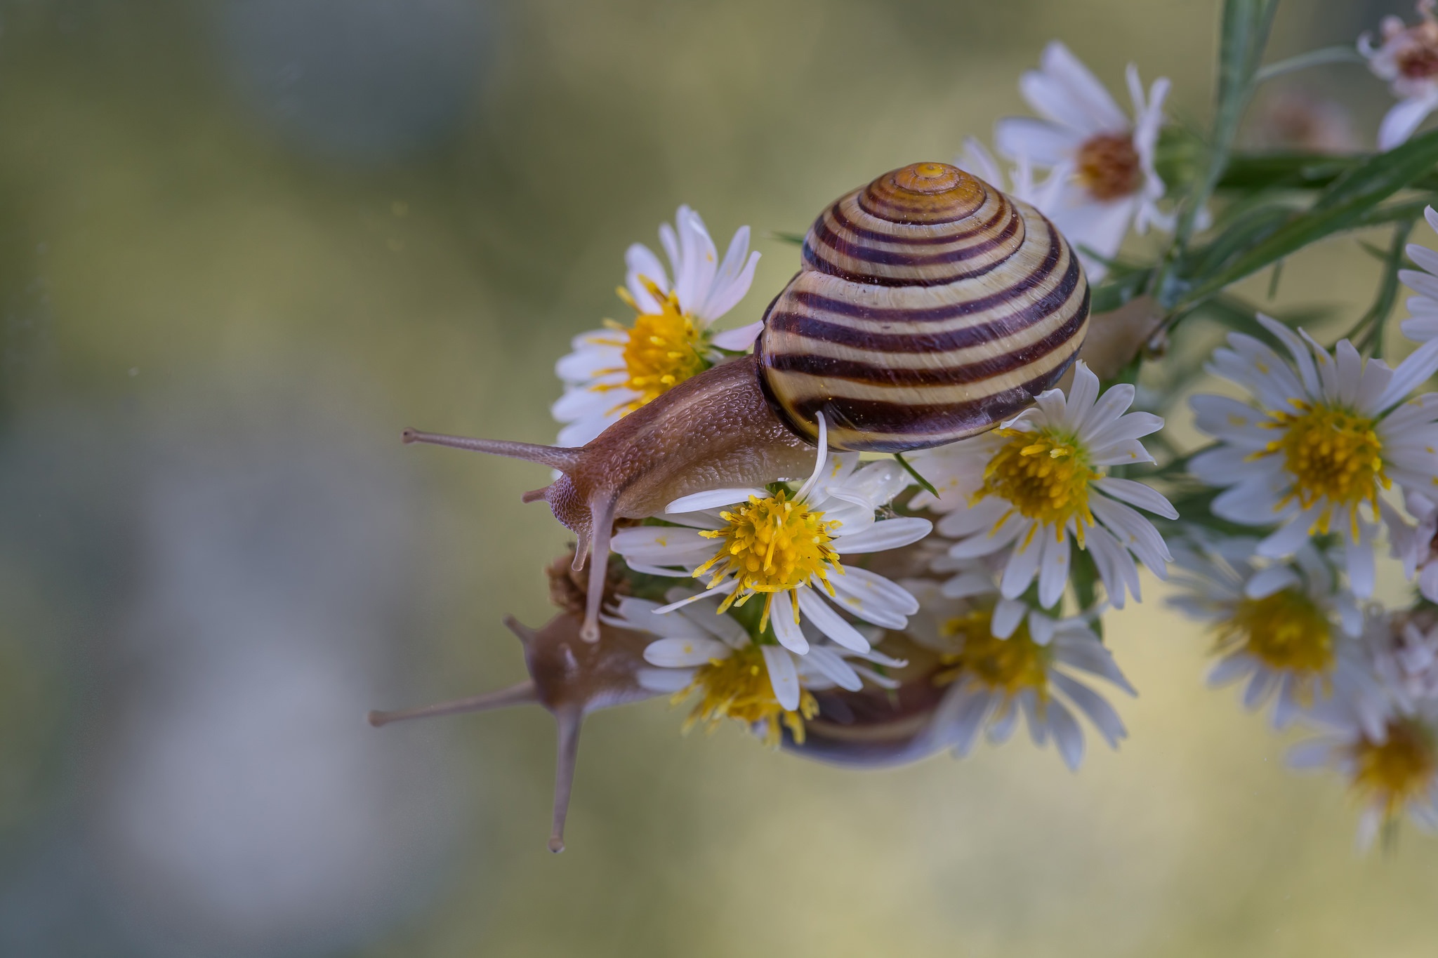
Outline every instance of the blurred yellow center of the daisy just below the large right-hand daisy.
[[1310, 679], [1333, 668], [1333, 629], [1327, 615], [1297, 589], [1263, 599], [1240, 599], [1218, 626], [1218, 652], [1242, 649], [1271, 669]]

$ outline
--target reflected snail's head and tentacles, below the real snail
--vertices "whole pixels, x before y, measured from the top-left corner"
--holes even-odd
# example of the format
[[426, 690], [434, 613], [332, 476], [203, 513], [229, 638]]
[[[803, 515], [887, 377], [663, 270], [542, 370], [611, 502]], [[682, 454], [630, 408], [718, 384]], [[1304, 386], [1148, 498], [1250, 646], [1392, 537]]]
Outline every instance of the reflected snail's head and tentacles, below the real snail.
[[[607, 563], [598, 563], [605, 567]], [[554, 781], [554, 823], [549, 850], [564, 850], [564, 822], [569, 811], [569, 793], [580, 748], [580, 725], [597, 710], [626, 705], [653, 698], [659, 692], [640, 685], [638, 672], [646, 666], [644, 646], [653, 636], [611, 625], [601, 626], [600, 642], [581, 642], [584, 623], [584, 589], [565, 573], [568, 560], [561, 559], [549, 569], [551, 596], [561, 612], [539, 629], [531, 629], [513, 616], [505, 625], [519, 636], [525, 649], [529, 678], [518, 685], [483, 695], [460, 698], [421, 708], [372, 711], [374, 727], [411, 718], [434, 718], [482, 712], [508, 705], [536, 704], [546, 708], [558, 725], [559, 748]], [[614, 596], [614, 582], [605, 585], [607, 597]]]

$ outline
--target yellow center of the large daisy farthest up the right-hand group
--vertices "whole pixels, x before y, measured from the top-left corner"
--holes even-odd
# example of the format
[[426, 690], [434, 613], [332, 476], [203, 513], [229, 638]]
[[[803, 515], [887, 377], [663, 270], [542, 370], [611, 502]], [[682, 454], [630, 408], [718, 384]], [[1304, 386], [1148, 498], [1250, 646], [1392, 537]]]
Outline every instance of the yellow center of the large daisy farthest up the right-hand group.
[[[1368, 503], [1378, 508], [1379, 485], [1392, 483], [1383, 474], [1383, 444], [1378, 438], [1376, 421], [1329, 405], [1294, 401], [1299, 412], [1270, 412], [1265, 428], [1281, 435], [1255, 454], [1283, 454], [1283, 464], [1293, 477], [1293, 491], [1278, 503], [1280, 508], [1294, 498], [1301, 508], [1327, 500], [1314, 530], [1329, 531], [1333, 506]], [[1357, 516], [1353, 517], [1357, 536]]]

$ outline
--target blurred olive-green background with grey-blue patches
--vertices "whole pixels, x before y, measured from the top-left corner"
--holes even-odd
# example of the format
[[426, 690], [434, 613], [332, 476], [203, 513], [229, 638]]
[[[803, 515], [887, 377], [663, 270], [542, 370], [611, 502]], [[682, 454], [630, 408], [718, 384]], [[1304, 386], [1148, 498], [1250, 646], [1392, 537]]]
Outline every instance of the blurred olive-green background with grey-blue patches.
[[[499, 620], [567, 540], [539, 470], [403, 427], [549, 441], [680, 203], [754, 227], [752, 322], [771, 231], [986, 139], [1048, 39], [1202, 124], [1217, 6], [0, 3], [0, 952], [1434, 954], [1438, 845], [1357, 856], [1152, 580], [1109, 618], [1132, 737], [1078, 774], [841, 771], [654, 701], [588, 722], [551, 856], [542, 711], [364, 724], [521, 678]], [[1388, 11], [1293, 0], [1270, 57]], [[1382, 85], [1299, 80], [1372, 142]], [[1373, 276], [1340, 240], [1284, 300]]]

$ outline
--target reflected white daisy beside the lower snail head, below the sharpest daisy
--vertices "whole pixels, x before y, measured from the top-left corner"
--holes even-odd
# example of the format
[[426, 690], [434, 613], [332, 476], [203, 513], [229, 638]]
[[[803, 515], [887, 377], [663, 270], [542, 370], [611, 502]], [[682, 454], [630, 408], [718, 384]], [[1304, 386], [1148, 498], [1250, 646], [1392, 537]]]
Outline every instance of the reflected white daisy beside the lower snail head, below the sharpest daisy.
[[[693, 599], [690, 590], [670, 589], [672, 603]], [[650, 632], [659, 638], [644, 649], [644, 661], [654, 668], [637, 675], [641, 687], [672, 692], [674, 701], [697, 691], [700, 698], [684, 722], [715, 728], [733, 718], [778, 745], [782, 730], [804, 743], [804, 720], [818, 712], [812, 692], [830, 688], [858, 691], [864, 679], [883, 688], [896, 682], [848, 659], [860, 658], [889, 668], [905, 662], [880, 652], [854, 652], [811, 633], [808, 654], [794, 655], [779, 645], [755, 642], [735, 618], [719, 610], [719, 599], [699, 597], [663, 613], [663, 606], [647, 599], [624, 596], [604, 620], [624, 629]], [[808, 623], [805, 623], [808, 625]]]

